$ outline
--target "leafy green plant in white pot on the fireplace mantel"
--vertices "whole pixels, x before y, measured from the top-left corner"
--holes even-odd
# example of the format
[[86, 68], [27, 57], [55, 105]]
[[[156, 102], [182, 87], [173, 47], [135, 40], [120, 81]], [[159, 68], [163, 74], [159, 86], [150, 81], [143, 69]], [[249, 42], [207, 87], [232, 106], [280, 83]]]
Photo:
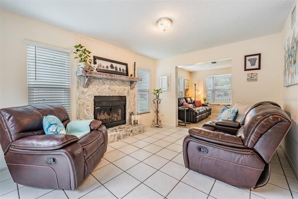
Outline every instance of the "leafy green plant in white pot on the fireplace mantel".
[[[92, 60], [89, 59], [90, 58], [90, 51], [87, 50], [86, 48], [84, 48], [85, 46], [82, 46], [81, 44], [79, 45], [75, 45], [74, 48], [75, 50], [75, 54], [77, 54], [77, 56], [75, 57], [75, 59], [80, 59], [79, 63], [77, 64], [80, 68], [80, 70], [86, 70], [86, 71], [93, 71], [91, 68], [93, 68], [91, 66]], [[89, 62], [89, 66], [87, 64], [87, 62]], [[87, 67], [88, 66], [88, 67]]]

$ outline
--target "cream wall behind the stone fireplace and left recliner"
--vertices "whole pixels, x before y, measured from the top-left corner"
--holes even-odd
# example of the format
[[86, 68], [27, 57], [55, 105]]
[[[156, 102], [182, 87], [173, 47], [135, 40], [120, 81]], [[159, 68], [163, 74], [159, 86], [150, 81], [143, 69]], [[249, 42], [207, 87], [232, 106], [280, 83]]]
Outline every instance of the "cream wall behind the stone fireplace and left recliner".
[[[137, 66], [152, 70], [151, 87], [154, 86], [155, 71], [152, 59], [2, 9], [0, 20], [0, 108], [28, 104], [27, 48], [24, 39], [69, 49], [72, 52], [74, 45], [82, 43], [97, 56], [128, 63], [129, 74], [133, 73], [132, 67], [136, 61]], [[71, 58], [73, 57], [72, 54]], [[75, 97], [77, 70], [76, 62], [71, 59], [72, 120], [76, 119], [77, 112]], [[150, 114], [141, 115], [142, 123], [148, 123], [152, 115], [152, 111]], [[0, 152], [0, 168], [4, 165], [4, 156]]]

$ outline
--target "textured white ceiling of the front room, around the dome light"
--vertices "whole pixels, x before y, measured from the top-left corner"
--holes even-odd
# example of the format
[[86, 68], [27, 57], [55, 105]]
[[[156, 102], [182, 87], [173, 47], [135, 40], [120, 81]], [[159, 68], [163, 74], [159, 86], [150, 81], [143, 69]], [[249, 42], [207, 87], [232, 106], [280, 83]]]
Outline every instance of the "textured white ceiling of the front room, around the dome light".
[[[5, 10], [152, 59], [278, 33], [293, 4], [294, 0], [0, 1]], [[156, 25], [162, 17], [173, 20], [166, 32]]]

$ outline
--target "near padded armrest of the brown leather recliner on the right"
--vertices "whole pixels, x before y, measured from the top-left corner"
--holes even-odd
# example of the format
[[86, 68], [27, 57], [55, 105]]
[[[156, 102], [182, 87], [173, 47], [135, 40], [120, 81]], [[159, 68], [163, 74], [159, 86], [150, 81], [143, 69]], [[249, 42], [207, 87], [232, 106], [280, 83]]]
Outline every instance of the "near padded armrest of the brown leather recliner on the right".
[[244, 146], [241, 138], [235, 135], [216, 132], [216, 131], [209, 131], [204, 128], [196, 128], [196, 127], [190, 128], [188, 130], [188, 133], [190, 134], [190, 136], [198, 138], [200, 140], [206, 140], [208, 142], [222, 144], [226, 146], [247, 148], [246, 146]]

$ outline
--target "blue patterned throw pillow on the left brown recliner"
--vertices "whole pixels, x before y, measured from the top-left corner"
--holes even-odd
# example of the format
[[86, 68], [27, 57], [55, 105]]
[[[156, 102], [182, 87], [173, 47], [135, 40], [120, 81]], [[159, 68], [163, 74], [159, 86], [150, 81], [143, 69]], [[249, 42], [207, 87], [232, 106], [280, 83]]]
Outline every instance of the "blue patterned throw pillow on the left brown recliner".
[[58, 119], [58, 117], [54, 115], [44, 116], [44, 119], [42, 120], [42, 125], [46, 134], [66, 134], [64, 125]]

